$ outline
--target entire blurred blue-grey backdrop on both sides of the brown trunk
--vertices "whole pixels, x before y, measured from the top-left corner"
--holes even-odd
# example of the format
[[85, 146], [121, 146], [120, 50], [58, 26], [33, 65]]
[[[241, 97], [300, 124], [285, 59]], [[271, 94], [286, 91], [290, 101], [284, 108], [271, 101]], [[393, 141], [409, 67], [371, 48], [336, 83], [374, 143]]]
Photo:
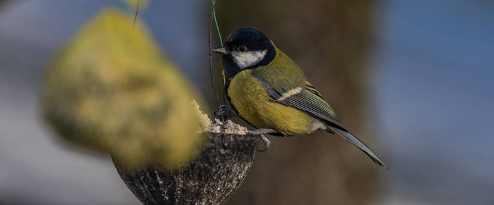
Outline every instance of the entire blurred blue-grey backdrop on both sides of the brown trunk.
[[[208, 3], [152, 1], [140, 13], [203, 92]], [[0, 204], [139, 204], [108, 157], [68, 152], [38, 116], [52, 55], [109, 4], [0, 4]], [[388, 0], [375, 10], [367, 118], [391, 170], [373, 204], [494, 204], [493, 1]]]

